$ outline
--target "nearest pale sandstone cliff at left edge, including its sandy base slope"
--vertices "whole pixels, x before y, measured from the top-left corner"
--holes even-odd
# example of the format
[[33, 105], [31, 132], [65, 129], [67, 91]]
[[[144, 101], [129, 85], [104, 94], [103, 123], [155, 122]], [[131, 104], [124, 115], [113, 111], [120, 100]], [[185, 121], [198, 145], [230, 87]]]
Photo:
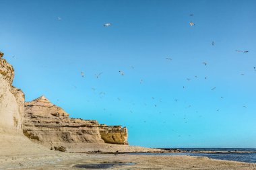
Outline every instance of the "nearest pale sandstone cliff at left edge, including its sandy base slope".
[[24, 93], [12, 86], [13, 67], [2, 57], [0, 52], [0, 156], [44, 153], [22, 134]]

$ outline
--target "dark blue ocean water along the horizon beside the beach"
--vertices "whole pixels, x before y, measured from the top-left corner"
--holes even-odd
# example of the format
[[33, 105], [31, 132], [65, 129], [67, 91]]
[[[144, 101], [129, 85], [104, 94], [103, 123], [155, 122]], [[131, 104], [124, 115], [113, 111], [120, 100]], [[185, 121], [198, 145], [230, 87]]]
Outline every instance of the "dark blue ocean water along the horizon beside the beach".
[[[172, 148], [165, 148], [172, 149]], [[209, 157], [227, 161], [239, 161], [245, 163], [256, 163], [256, 148], [179, 148], [186, 153], [131, 153], [138, 155], [190, 155], [197, 157]], [[191, 153], [191, 151], [244, 151], [254, 153]]]

